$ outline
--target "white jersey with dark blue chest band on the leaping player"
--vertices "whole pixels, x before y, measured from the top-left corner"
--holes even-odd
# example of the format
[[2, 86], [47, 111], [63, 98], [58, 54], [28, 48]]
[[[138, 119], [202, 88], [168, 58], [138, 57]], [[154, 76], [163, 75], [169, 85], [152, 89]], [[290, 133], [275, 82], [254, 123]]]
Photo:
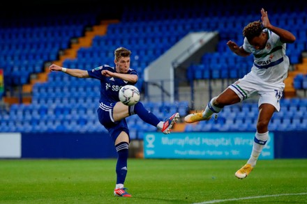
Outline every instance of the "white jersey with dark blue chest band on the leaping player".
[[269, 39], [264, 49], [255, 49], [246, 38], [244, 38], [243, 48], [246, 52], [252, 53], [254, 63], [251, 69], [253, 74], [269, 83], [280, 83], [287, 78], [289, 69], [289, 58], [285, 55], [286, 44], [280, 42], [279, 36], [268, 29]]

